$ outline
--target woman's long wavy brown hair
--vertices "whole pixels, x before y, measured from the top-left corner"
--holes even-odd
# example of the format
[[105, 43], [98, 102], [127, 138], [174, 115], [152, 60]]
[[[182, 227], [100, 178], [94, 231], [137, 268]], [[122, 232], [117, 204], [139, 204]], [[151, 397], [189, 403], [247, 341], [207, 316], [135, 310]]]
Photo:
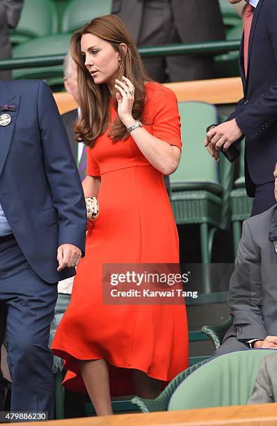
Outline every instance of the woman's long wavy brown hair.
[[[93, 19], [83, 28], [76, 31], [71, 39], [71, 55], [77, 63], [80, 117], [74, 126], [76, 141], [82, 141], [89, 147], [95, 139], [103, 134], [109, 127], [111, 97], [117, 109], [116, 89], [110, 93], [106, 83], [95, 84], [93, 77], [86, 69], [84, 56], [81, 55], [81, 37], [84, 34], [93, 34], [111, 43], [116, 52], [120, 54], [118, 65], [118, 79], [125, 75], [134, 84], [134, 105], [132, 115], [136, 120], [143, 120], [145, 106], [145, 81], [150, 81], [146, 73], [134, 40], [127, 26], [116, 15], [105, 15]], [[123, 49], [120, 43], [125, 43]], [[129, 136], [125, 125], [118, 116], [113, 123], [109, 136], [113, 142], [127, 139]]]

